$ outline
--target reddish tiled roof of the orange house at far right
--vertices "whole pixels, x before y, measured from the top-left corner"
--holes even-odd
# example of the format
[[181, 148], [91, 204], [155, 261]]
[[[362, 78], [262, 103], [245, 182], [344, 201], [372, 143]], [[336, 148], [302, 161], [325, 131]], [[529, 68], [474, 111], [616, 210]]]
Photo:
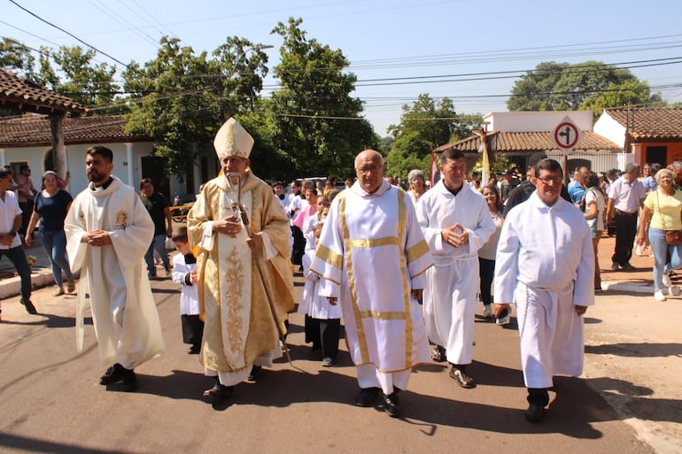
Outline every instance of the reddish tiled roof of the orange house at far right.
[[682, 108], [605, 109], [634, 140], [682, 139]]

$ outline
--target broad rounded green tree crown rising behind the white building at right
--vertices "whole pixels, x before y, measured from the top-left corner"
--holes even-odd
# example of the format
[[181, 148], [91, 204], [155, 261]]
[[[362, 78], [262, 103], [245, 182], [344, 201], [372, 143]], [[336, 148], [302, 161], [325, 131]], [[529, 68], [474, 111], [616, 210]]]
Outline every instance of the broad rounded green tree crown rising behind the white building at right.
[[[611, 96], [621, 91], [622, 95]], [[639, 81], [630, 70], [614, 65], [598, 61], [577, 65], [543, 62], [515, 82], [507, 107], [510, 111], [577, 111], [595, 106], [614, 107], [627, 104], [622, 100], [628, 98], [646, 103], [650, 100], [648, 91], [646, 81]]]

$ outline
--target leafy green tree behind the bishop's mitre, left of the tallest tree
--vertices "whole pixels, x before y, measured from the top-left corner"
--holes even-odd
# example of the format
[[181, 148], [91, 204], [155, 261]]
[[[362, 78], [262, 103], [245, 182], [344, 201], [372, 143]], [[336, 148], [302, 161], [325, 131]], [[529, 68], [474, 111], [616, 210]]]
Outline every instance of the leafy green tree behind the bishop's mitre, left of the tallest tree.
[[198, 150], [213, 150], [213, 135], [225, 119], [255, 108], [267, 73], [267, 55], [259, 49], [233, 36], [209, 59], [177, 38], [161, 38], [157, 58], [132, 63], [123, 73], [131, 104], [127, 130], [151, 136], [154, 154], [182, 178]]

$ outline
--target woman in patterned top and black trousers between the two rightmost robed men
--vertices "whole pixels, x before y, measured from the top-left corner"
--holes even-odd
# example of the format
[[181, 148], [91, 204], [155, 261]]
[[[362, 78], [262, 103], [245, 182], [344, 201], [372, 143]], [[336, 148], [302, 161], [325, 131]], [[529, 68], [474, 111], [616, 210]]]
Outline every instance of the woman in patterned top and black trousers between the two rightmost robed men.
[[502, 200], [500, 191], [494, 184], [486, 184], [483, 187], [483, 198], [488, 205], [492, 220], [495, 222], [495, 232], [491, 235], [481, 249], [478, 250], [478, 270], [481, 277], [481, 301], [483, 302], [483, 316], [492, 319], [492, 278], [495, 275], [495, 254], [497, 254], [497, 242], [502, 230]]

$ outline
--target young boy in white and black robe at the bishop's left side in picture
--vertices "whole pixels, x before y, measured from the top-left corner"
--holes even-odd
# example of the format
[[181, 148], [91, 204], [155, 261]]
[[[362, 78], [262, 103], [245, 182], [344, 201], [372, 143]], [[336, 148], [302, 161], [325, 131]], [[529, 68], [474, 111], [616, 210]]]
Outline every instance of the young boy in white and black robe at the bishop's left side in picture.
[[187, 227], [178, 228], [171, 237], [179, 254], [173, 257], [173, 281], [182, 285], [180, 292], [180, 317], [182, 321], [182, 342], [189, 343], [190, 355], [198, 355], [204, 322], [199, 319], [199, 298], [197, 289], [197, 258], [190, 249]]

